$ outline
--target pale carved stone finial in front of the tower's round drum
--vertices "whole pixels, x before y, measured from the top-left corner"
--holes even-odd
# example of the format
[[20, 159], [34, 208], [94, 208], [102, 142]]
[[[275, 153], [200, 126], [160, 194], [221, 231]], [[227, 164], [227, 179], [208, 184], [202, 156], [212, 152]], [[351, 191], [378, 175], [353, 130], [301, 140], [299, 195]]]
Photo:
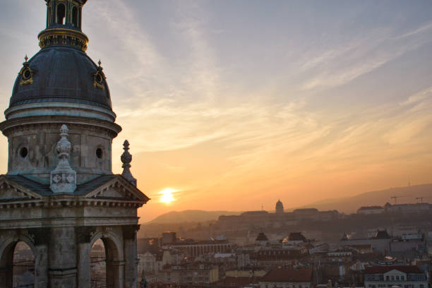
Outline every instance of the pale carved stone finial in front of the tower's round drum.
[[51, 186], [49, 186], [54, 193], [73, 193], [76, 189], [76, 172], [73, 171], [68, 160], [71, 153], [71, 143], [67, 138], [68, 132], [68, 126], [61, 126], [61, 139], [56, 148], [59, 153], [59, 164], [51, 172]]

